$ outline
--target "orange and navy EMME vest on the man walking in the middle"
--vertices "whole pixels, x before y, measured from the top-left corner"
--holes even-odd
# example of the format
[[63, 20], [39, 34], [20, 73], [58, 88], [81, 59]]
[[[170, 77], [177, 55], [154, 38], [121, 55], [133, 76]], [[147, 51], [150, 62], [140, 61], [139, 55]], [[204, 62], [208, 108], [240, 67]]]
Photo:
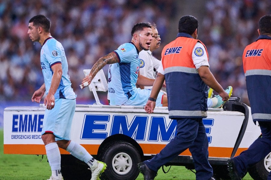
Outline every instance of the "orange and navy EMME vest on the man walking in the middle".
[[[200, 41], [186, 33], [179, 33], [162, 51], [170, 117], [179, 117], [180, 110], [183, 116], [207, 116], [207, 85], [199, 76], [192, 59], [192, 51], [197, 42]], [[205, 51], [207, 52], [207, 49]], [[176, 89], [179, 91], [176, 92]], [[189, 96], [187, 92], [190, 93]], [[176, 95], [170, 96], [172, 94]], [[176, 115], [172, 114], [174, 110], [178, 110]]]

